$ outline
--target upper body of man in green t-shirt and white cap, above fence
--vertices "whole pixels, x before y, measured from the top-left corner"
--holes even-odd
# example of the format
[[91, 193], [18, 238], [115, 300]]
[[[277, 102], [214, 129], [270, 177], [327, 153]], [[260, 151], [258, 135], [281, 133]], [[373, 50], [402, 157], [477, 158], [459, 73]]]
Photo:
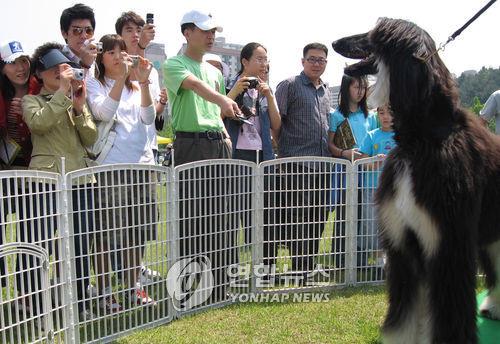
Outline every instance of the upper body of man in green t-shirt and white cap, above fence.
[[215, 32], [221, 32], [222, 27], [209, 14], [191, 11], [182, 18], [181, 31], [186, 51], [168, 59], [163, 67], [175, 132], [175, 163], [230, 158], [231, 143], [222, 117], [234, 117], [240, 110], [225, 96], [220, 71], [202, 61], [212, 49]]

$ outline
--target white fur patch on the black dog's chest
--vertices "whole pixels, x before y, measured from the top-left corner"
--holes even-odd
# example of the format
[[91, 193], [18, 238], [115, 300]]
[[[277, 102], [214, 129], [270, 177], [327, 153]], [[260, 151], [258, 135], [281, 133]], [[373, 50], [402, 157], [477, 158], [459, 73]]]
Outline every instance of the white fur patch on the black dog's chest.
[[417, 236], [425, 256], [431, 257], [439, 246], [440, 233], [429, 212], [415, 201], [408, 166], [394, 180], [394, 189], [394, 197], [385, 199], [379, 206], [385, 235], [391, 245], [402, 248], [405, 230], [411, 230]]

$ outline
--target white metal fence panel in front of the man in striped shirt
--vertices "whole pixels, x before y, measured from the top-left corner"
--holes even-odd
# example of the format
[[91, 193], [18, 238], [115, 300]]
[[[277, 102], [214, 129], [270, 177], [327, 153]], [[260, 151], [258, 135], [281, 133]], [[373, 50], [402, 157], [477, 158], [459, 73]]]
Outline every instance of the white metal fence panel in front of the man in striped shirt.
[[[266, 161], [259, 167], [263, 291], [345, 285], [348, 237], [345, 160], [301, 157]], [[337, 185], [337, 179], [341, 185]], [[334, 189], [332, 189], [332, 187]], [[341, 196], [340, 199], [339, 195]], [[337, 214], [337, 219], [336, 219]], [[260, 280], [260, 283], [259, 283]]]

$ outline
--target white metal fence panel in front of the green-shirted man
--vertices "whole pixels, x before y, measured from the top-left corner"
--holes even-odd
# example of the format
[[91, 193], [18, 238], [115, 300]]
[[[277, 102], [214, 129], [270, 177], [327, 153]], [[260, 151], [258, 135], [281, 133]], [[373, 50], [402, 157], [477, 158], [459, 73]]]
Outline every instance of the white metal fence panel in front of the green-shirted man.
[[170, 285], [179, 315], [230, 303], [251, 287], [255, 168], [222, 159], [175, 168], [178, 266]]

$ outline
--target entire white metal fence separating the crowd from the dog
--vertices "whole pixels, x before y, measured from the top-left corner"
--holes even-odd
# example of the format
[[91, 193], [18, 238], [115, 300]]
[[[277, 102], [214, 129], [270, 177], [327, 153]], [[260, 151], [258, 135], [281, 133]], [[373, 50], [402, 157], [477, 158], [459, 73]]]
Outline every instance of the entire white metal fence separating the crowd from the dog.
[[380, 164], [0, 172], [0, 338], [109, 342], [241, 295], [379, 283]]

